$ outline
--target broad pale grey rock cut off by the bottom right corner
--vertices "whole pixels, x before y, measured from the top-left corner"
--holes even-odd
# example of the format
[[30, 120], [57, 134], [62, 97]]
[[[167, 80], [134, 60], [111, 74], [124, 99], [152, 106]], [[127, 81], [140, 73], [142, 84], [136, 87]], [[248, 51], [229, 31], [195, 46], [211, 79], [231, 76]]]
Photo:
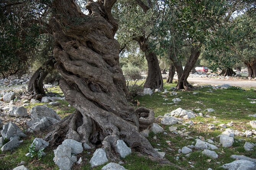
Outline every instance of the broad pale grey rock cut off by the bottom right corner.
[[256, 170], [256, 164], [249, 160], [235, 160], [221, 167], [227, 170]]

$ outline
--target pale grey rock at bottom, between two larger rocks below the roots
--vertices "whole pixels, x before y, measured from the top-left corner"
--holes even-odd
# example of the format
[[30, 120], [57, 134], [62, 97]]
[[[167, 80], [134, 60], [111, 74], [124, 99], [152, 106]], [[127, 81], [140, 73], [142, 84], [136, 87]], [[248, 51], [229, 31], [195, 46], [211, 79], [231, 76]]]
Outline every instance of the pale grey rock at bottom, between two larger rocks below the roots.
[[93, 156], [90, 160], [90, 164], [91, 164], [91, 167], [96, 167], [99, 165], [103, 165], [108, 161], [109, 159], [107, 159], [107, 155], [104, 149], [99, 148], [99, 149], [96, 149], [96, 151], [93, 153]]

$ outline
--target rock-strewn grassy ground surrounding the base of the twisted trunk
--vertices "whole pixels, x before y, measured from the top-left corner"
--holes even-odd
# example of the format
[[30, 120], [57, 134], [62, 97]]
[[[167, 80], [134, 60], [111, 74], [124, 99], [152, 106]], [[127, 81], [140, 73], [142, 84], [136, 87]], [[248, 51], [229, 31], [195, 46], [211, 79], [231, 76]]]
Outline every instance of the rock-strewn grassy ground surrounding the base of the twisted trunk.
[[[19, 155], [17, 152], [20, 151], [21, 146], [27, 143], [26, 146], [29, 146], [29, 148], [25, 151], [26, 157], [29, 159], [22, 158], [25, 154], [21, 155], [21, 159], [17, 159], [20, 162], [15, 164], [15, 167], [19, 165], [15, 170], [26, 170], [27, 167], [37, 169], [37, 166], [53, 169], [54, 165], [48, 165], [49, 163], [34, 165], [35, 159], [41, 159], [41, 157], [42, 160], [53, 162], [62, 170], [80, 169], [84, 166], [88, 169], [99, 169], [99, 166], [102, 170], [143, 169], [141, 167], [143, 165], [140, 165], [139, 168], [136, 167], [139, 165], [134, 166], [131, 162], [128, 163], [131, 159], [131, 156], [129, 156], [131, 149], [122, 140], [119, 140], [116, 144], [118, 154], [122, 158], [121, 162], [117, 162], [118, 164], [113, 162], [106, 164], [109, 160], [103, 149], [91, 148], [86, 143], [79, 143], [74, 140], [63, 141], [61, 145], [55, 148], [53, 153], [47, 150], [49, 143], [42, 140], [44, 134], [47, 133], [47, 128], [70, 114], [69, 112], [74, 111], [74, 109], [68, 105], [65, 97], [61, 95], [46, 96], [42, 98], [42, 101], [20, 99], [20, 96], [26, 91], [28, 80], [26, 77], [11, 80], [11, 83], [10, 80], [0, 80], [5, 84], [1, 86], [0, 97], [0, 129], [2, 135], [0, 137], [2, 152], [0, 158], [4, 161], [0, 165], [8, 165], [3, 169], [14, 168], [14, 165], [10, 164], [5, 157], [10, 159], [13, 152]], [[45, 85], [45, 88], [49, 91], [60, 92], [59, 88], [54, 85]], [[153, 92], [150, 89], [145, 89], [144, 93], [148, 95], [142, 96], [138, 100], [141, 106], [152, 108], [156, 112], [156, 121], [141, 134], [149, 139], [161, 157], [185, 169], [211, 170], [220, 167], [228, 170], [254, 170], [256, 169], [256, 152], [254, 151], [256, 146], [256, 95], [254, 91], [252, 91], [252, 95], [246, 95], [246, 100], [243, 100], [248, 104], [246, 106], [250, 107], [245, 110], [247, 115], [241, 117], [241, 119], [237, 116], [240, 111], [230, 111], [230, 117], [232, 117], [232, 113], [233, 116], [237, 116], [233, 119], [226, 115], [226, 117], [221, 117], [218, 108], [222, 107], [220, 103], [212, 104], [212, 106], [215, 106], [214, 108], [207, 107], [209, 104], [201, 99], [193, 101], [197, 107], [194, 107], [192, 103], [183, 103], [187, 96], [199, 99], [204, 97], [203, 93], [207, 94], [206, 96], [214, 97], [216, 94], [221, 94], [221, 90], [223, 92], [225, 90], [240, 90], [241, 93], [245, 91], [241, 88], [233, 88], [229, 85], [198, 85], [195, 91], [184, 93], [166, 85], [163, 91], [156, 90]], [[157, 104], [152, 104], [147, 99], [157, 102]], [[147, 101], [146, 104], [144, 101]], [[149, 105], [147, 106], [147, 104]], [[169, 112], [165, 111], [165, 108]], [[144, 118], [141, 117], [140, 119]], [[28, 140], [28, 138], [31, 138], [31, 140]], [[31, 143], [29, 143], [30, 141]], [[34, 166], [31, 166], [31, 164]], [[133, 168], [130, 167], [131, 164], [134, 166]], [[206, 166], [200, 167], [198, 164], [205, 164]], [[156, 167], [156, 169], [161, 168]], [[154, 166], [150, 169], [154, 169]], [[176, 168], [169, 167], [168, 169]]]

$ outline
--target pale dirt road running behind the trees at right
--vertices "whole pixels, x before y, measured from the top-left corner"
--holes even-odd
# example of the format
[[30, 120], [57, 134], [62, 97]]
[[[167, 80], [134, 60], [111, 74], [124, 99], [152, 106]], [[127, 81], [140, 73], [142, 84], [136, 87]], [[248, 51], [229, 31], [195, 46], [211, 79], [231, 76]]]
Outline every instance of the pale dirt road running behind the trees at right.
[[[178, 77], [174, 77], [178, 79]], [[229, 84], [231, 86], [238, 87], [256, 87], [256, 80], [227, 80], [227, 79], [209, 79], [209, 78], [199, 78], [199, 77], [188, 77], [188, 82], [198, 83], [198, 84], [210, 84], [210, 85], [224, 85]]]

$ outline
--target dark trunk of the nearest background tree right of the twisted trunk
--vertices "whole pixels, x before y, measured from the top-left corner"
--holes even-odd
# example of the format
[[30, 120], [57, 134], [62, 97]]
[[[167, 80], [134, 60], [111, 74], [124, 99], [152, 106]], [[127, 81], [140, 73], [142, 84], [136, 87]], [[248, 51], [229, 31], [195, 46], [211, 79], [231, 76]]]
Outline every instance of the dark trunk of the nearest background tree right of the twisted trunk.
[[161, 90], [163, 88], [164, 82], [156, 54], [150, 51], [148, 42], [144, 36], [134, 38], [134, 40], [139, 43], [139, 47], [145, 53], [147, 60], [148, 74], [146, 82], [144, 83], [144, 88], [159, 88]]

